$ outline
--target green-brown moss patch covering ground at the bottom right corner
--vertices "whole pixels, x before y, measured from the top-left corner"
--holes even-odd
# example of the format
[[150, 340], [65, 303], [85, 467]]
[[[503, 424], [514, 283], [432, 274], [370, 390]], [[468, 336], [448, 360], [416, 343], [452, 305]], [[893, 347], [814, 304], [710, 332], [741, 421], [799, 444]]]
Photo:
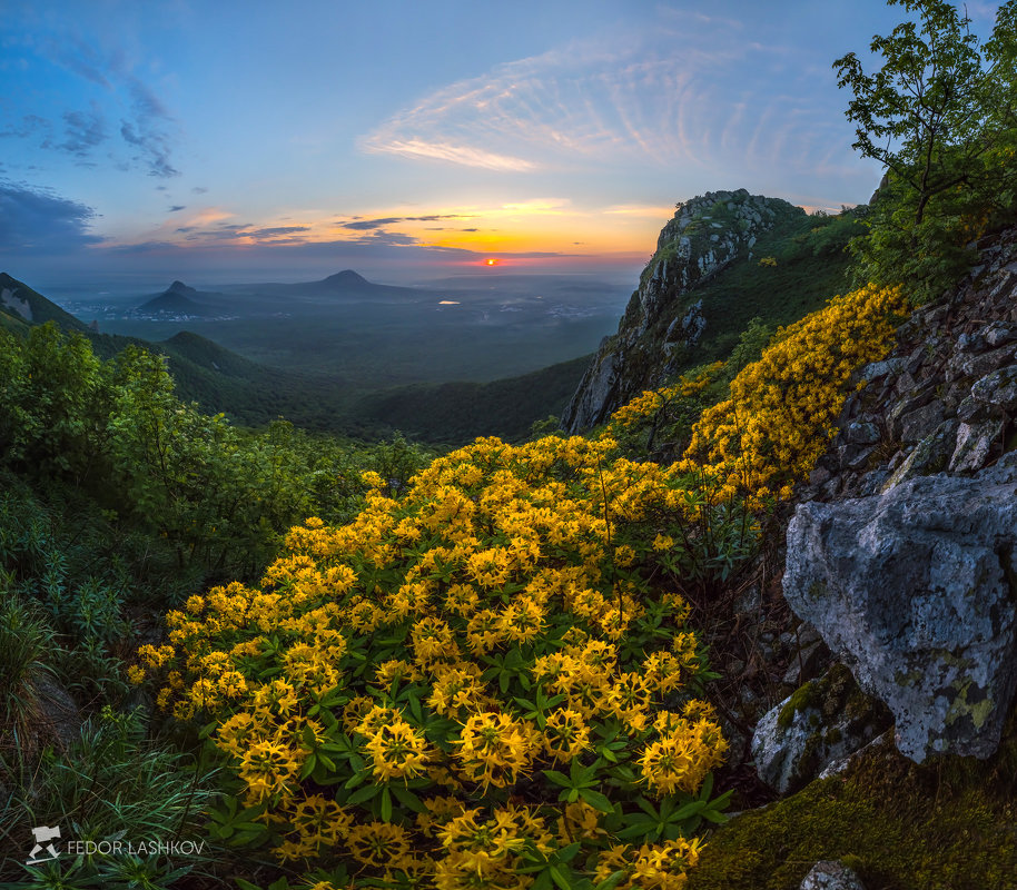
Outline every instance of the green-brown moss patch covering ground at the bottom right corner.
[[1017, 732], [993, 759], [865, 758], [843, 775], [734, 819], [689, 890], [798, 890], [821, 859], [881, 890], [1004, 890], [1017, 876]]

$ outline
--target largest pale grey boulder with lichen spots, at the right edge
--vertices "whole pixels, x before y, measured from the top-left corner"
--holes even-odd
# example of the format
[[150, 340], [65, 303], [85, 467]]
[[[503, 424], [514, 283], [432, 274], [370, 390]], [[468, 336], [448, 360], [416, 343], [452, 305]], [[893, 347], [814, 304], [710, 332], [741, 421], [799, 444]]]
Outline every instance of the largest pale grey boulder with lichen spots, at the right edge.
[[799, 505], [784, 596], [887, 703], [901, 753], [990, 755], [1017, 686], [1017, 461]]

